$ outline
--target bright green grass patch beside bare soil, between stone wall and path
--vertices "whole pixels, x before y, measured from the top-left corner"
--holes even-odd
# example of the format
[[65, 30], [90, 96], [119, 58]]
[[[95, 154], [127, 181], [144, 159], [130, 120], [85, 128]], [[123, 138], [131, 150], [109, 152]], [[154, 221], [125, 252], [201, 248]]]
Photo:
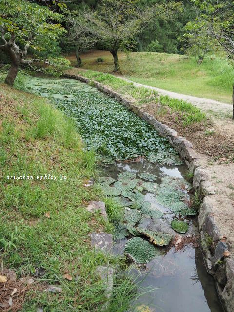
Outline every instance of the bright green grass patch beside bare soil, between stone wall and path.
[[186, 101], [170, 98], [168, 96], [160, 96], [160, 103], [171, 107], [176, 112], [182, 112], [184, 125], [189, 125], [194, 122], [201, 122], [206, 120], [206, 114], [191, 103]]

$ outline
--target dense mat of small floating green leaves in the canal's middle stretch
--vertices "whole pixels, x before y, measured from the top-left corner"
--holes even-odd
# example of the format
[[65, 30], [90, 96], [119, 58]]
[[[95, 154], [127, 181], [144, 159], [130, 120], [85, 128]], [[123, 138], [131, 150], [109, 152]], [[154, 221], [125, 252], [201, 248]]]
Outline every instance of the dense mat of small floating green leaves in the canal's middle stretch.
[[[42, 87], [37, 85], [36, 90], [42, 90]], [[51, 90], [52, 96], [53, 93], [57, 91]], [[97, 91], [76, 92], [67, 88], [60, 88], [59, 94], [63, 96], [55, 98], [57, 107], [76, 119], [76, 126], [88, 148], [116, 159], [149, 153], [160, 153], [159, 163], [164, 163], [169, 155], [179, 158], [165, 138], [159, 137], [149, 124], [115, 99]]]

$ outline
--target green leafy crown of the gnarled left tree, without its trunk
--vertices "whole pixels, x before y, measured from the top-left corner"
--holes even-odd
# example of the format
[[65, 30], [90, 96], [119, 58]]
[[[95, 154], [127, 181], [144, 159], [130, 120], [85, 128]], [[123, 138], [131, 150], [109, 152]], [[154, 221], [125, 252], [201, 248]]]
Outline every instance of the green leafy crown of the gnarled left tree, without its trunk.
[[35, 51], [45, 50], [48, 42], [58, 39], [64, 32], [60, 22], [62, 15], [29, 1], [1, 0], [0, 26], [5, 30], [6, 38], [14, 32], [22, 44], [28, 43]]

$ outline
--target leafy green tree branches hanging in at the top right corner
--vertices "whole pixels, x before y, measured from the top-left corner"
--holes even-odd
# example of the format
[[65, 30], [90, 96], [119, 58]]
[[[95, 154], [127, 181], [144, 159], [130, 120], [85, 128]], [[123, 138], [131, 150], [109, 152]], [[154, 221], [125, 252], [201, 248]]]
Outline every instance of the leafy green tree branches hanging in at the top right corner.
[[[199, 28], [224, 49], [234, 65], [234, 1], [233, 0], [191, 0], [201, 14], [191, 27]], [[234, 118], [234, 86], [233, 86]]]

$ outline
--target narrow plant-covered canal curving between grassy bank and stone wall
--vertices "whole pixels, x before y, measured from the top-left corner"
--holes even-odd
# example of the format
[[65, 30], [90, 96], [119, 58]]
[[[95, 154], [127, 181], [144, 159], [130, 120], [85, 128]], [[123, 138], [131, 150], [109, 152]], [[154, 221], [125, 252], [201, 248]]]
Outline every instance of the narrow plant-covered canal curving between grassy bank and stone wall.
[[153, 289], [139, 302], [154, 312], [222, 312], [196, 239], [188, 171], [167, 140], [116, 100], [79, 81], [30, 77], [28, 91], [52, 98], [96, 151], [100, 187], [125, 209], [115, 224], [114, 252], [127, 251], [136, 263], [130, 273]]

